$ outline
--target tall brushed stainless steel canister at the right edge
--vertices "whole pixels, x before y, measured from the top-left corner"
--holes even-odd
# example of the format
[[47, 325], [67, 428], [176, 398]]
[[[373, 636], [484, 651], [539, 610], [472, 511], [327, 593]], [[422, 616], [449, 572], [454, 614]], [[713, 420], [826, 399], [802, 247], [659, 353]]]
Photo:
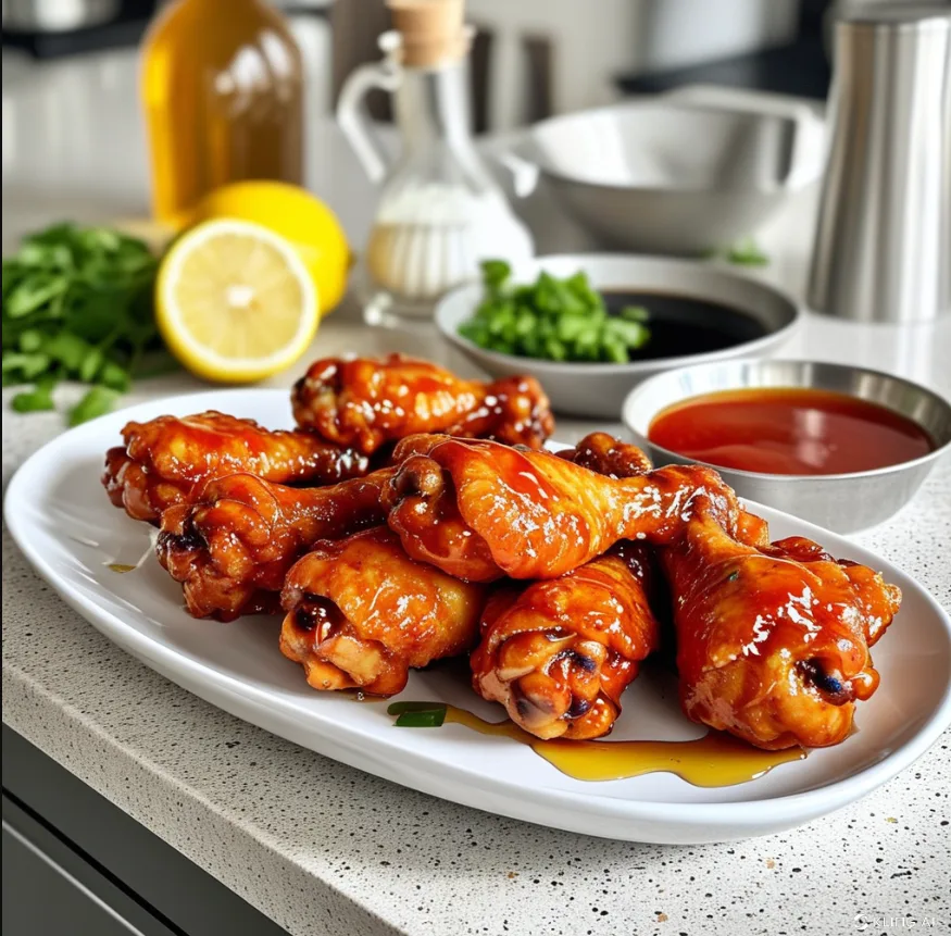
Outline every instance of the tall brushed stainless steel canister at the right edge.
[[951, 310], [951, 7], [873, 3], [836, 23], [831, 145], [810, 273], [818, 312]]

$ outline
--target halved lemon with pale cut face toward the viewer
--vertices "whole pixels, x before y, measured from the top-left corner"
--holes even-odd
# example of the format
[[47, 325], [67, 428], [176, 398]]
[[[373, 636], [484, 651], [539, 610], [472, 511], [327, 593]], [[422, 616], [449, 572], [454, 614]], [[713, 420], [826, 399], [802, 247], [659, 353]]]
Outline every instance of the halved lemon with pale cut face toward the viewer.
[[172, 245], [159, 270], [162, 338], [207, 380], [247, 384], [283, 371], [306, 350], [320, 317], [303, 261], [259, 224], [199, 224]]

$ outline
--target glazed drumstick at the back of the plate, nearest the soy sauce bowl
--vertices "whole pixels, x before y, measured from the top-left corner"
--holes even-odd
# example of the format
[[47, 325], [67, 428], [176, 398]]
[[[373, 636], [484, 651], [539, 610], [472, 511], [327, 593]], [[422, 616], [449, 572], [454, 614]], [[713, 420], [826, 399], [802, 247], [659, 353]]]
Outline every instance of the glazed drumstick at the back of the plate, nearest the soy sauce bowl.
[[402, 354], [315, 361], [295, 386], [292, 401], [302, 428], [367, 454], [416, 433], [540, 448], [554, 426], [534, 377], [463, 380]]

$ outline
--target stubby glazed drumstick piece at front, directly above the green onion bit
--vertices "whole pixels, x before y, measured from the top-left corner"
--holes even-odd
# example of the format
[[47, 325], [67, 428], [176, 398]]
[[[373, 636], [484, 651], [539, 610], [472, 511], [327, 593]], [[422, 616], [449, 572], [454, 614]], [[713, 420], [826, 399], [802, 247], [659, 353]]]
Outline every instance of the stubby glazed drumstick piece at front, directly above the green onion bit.
[[472, 647], [485, 591], [413, 561], [386, 527], [321, 542], [287, 576], [280, 649], [315, 689], [390, 696]]

